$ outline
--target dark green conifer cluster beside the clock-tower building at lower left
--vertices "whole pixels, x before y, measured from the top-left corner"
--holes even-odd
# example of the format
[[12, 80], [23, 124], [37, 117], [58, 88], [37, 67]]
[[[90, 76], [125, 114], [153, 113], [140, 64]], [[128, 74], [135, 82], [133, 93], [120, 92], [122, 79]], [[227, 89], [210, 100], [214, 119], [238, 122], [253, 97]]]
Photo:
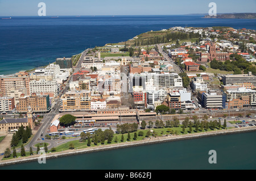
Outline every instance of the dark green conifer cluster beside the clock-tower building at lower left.
[[22, 140], [22, 143], [26, 143], [28, 138], [31, 137], [32, 130], [30, 126], [26, 126], [26, 129], [21, 125], [17, 132], [13, 134], [13, 138], [11, 139], [11, 146], [17, 146], [19, 141]]

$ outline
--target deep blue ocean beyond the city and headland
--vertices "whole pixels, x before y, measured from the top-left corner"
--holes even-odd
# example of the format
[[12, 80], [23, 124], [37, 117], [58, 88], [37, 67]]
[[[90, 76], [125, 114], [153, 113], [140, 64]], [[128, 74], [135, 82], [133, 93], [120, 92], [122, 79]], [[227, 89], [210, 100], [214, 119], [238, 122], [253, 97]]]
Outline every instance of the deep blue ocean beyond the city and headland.
[[118, 43], [174, 26], [229, 26], [256, 30], [256, 19], [204, 19], [202, 15], [0, 17], [0, 75], [71, 57], [86, 48]]

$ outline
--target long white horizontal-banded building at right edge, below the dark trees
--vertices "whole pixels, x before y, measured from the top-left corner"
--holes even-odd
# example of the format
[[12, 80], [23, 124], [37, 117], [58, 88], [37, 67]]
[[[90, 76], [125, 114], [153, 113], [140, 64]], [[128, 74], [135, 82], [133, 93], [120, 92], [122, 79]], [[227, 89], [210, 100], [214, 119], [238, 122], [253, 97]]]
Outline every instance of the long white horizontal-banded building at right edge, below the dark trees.
[[252, 75], [251, 71], [249, 71], [248, 74], [223, 75], [222, 82], [224, 85], [252, 83], [254, 86], [256, 86], [256, 76]]

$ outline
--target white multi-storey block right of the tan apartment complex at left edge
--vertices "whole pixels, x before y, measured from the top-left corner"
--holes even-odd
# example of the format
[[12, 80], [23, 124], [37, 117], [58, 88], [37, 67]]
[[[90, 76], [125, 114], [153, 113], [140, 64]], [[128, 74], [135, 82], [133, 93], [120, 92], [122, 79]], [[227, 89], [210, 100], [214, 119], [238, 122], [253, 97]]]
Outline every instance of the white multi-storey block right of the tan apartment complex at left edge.
[[52, 94], [53, 96], [59, 94], [59, 83], [56, 80], [46, 81], [46, 79], [40, 79], [39, 81], [30, 81], [29, 87], [31, 93]]

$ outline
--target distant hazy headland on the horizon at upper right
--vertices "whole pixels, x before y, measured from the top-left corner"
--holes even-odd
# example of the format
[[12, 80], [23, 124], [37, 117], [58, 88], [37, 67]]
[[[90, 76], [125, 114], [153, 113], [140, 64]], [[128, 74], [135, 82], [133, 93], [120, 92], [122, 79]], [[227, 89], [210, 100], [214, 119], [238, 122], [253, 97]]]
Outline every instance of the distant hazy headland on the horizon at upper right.
[[216, 16], [205, 15], [204, 18], [255, 19], [256, 13], [217, 14]]

